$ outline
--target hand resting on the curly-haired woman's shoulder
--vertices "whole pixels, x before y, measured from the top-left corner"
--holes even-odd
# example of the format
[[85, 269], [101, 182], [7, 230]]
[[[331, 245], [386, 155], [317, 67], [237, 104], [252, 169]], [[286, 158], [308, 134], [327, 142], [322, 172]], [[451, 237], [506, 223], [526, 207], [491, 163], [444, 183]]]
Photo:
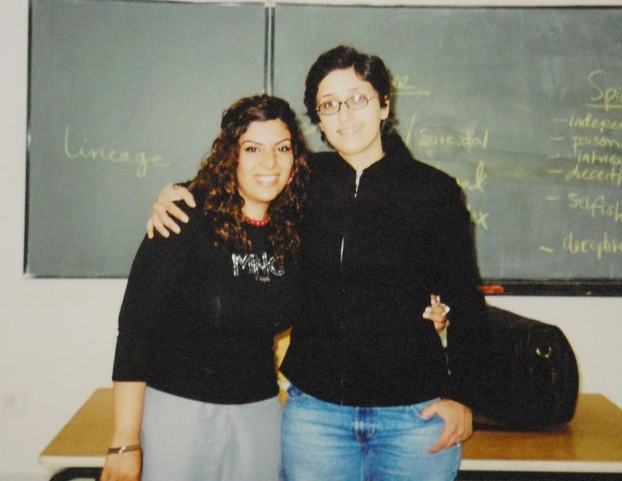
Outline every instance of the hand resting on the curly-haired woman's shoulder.
[[169, 237], [172, 230], [178, 234], [181, 232], [180, 227], [170, 216], [176, 217], [176, 219], [187, 222], [188, 216], [186, 213], [178, 208], [173, 202], [184, 201], [189, 207], [196, 207], [194, 197], [191, 192], [181, 185], [169, 184], [164, 186], [162, 192], [158, 195], [156, 202], [151, 206], [151, 215], [147, 220], [147, 237], [153, 239], [153, 230], [157, 230], [162, 237]]

